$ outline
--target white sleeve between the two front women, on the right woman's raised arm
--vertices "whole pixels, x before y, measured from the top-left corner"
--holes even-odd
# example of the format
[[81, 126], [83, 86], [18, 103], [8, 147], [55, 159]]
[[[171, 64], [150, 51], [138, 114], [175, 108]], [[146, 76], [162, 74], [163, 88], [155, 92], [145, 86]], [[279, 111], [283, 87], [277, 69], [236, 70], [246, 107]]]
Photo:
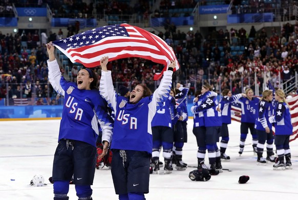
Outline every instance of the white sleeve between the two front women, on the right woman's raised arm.
[[116, 91], [114, 90], [112, 71], [101, 71], [101, 79], [99, 84], [100, 95], [108, 102], [116, 113]]

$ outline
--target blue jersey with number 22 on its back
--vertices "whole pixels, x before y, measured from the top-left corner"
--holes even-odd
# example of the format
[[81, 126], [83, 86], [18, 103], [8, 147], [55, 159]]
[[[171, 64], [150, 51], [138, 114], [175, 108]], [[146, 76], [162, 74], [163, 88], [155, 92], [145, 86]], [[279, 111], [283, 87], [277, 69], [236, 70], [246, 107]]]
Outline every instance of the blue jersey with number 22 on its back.
[[218, 101], [216, 96], [210, 96], [200, 106], [195, 106], [194, 113], [203, 111], [205, 127], [218, 127], [222, 125], [221, 113], [217, 111]]

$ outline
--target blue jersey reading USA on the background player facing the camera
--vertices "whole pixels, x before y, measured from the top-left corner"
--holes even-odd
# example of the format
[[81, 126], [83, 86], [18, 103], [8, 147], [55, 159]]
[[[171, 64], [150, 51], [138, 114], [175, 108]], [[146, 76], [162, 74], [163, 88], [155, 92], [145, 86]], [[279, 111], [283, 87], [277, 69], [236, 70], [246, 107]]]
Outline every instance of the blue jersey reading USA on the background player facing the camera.
[[251, 100], [247, 97], [239, 98], [238, 103], [241, 105], [241, 122], [256, 122], [259, 101], [257, 97], [252, 97]]

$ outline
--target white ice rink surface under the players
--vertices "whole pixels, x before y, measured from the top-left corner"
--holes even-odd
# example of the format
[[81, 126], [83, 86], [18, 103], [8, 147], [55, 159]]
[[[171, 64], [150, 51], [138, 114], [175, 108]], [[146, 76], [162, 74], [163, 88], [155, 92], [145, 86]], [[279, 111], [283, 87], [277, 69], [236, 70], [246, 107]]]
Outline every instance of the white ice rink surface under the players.
[[[53, 185], [48, 179], [52, 176], [59, 123], [60, 120], [0, 121], [0, 199], [53, 199]], [[296, 199], [298, 140], [290, 143], [293, 169], [274, 171], [273, 163], [257, 165], [250, 134], [240, 157], [240, 123], [233, 121], [228, 127], [230, 141], [226, 154], [231, 157], [231, 161], [222, 162], [222, 166], [231, 171], [224, 170], [207, 182], [193, 182], [188, 178], [188, 173], [195, 170], [193, 167], [185, 171], [174, 169], [171, 174], [163, 174], [161, 168], [160, 174], [151, 174], [150, 193], [145, 195], [146, 199]], [[192, 131], [193, 119], [189, 119], [188, 142], [183, 147], [183, 161], [195, 166], [197, 143]], [[263, 156], [266, 156], [266, 152]], [[30, 186], [35, 174], [44, 176], [47, 185]], [[242, 175], [250, 177], [246, 184], [238, 183]], [[92, 189], [94, 200], [118, 199], [110, 170], [95, 171]], [[69, 197], [77, 199], [74, 185], [70, 185]]]

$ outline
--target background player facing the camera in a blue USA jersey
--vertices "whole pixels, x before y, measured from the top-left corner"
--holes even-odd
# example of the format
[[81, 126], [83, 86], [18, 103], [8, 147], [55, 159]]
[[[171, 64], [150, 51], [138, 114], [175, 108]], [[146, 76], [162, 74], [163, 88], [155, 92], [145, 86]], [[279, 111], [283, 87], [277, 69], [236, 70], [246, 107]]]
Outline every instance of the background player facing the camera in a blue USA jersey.
[[246, 97], [241, 97], [238, 103], [241, 105], [241, 136], [240, 136], [240, 150], [239, 154], [243, 153], [245, 140], [248, 134], [248, 129], [252, 136], [252, 148], [253, 152], [257, 153], [258, 135], [254, 129], [254, 123], [258, 117], [258, 104], [259, 98], [253, 97], [253, 91], [251, 88], [245, 90]]

